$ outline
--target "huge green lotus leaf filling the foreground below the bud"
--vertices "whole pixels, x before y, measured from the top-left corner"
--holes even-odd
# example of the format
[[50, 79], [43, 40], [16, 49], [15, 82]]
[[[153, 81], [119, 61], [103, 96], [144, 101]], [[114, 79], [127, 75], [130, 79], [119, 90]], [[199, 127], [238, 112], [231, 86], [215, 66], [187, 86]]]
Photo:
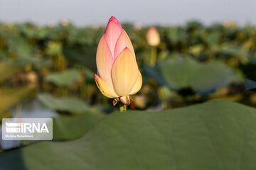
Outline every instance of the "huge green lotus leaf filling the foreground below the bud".
[[78, 140], [0, 153], [1, 169], [256, 169], [256, 110], [224, 100], [113, 113]]

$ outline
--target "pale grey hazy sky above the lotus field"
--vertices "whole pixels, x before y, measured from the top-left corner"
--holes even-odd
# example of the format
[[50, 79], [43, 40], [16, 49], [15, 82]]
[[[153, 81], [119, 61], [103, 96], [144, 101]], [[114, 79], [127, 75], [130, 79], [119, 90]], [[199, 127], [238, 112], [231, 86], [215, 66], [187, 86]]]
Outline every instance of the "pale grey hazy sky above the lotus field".
[[106, 24], [110, 16], [142, 25], [237, 21], [256, 25], [256, 0], [0, 0], [0, 22], [40, 25], [68, 19], [77, 26]]

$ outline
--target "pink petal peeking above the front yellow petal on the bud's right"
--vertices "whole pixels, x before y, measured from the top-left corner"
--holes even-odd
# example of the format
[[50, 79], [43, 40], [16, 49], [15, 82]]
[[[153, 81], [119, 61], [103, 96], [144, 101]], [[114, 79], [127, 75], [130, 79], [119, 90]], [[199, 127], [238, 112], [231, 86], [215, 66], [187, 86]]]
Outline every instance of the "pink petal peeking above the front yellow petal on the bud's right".
[[125, 47], [128, 47], [129, 50], [132, 52], [132, 55], [135, 57], [134, 48], [132, 47], [132, 42], [129, 39], [127, 33], [124, 29], [122, 29], [122, 33], [120, 34], [117, 44], [114, 47], [114, 58], [117, 58], [117, 56], [124, 50]]

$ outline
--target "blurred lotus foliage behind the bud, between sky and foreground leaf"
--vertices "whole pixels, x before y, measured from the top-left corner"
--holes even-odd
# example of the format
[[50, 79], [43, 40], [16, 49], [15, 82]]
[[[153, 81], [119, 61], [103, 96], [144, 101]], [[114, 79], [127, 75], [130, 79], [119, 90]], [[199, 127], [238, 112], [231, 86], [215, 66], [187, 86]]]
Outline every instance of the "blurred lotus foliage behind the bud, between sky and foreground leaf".
[[[122, 23], [122, 26], [132, 40], [142, 71], [144, 86], [139, 96], [135, 96], [146, 98], [142, 109], [152, 104], [156, 107], [164, 100], [166, 107], [172, 108], [207, 101], [209, 98], [233, 98], [234, 95], [241, 96], [235, 101], [250, 106], [255, 104], [241, 83], [242, 77], [256, 79], [255, 26], [239, 27], [232, 22], [203, 26], [198, 21], [188, 22], [184, 26], [157, 26], [161, 37], [161, 43], [156, 47], [158, 71], [144, 67], [151, 55], [151, 48], [146, 44], [149, 28], [137, 28], [129, 23]], [[103, 26], [78, 28], [71, 23], [43, 27], [32, 23], [1, 23], [0, 61], [19, 65], [25, 72], [35, 71], [42, 91], [53, 92], [55, 96], [78, 96], [88, 103], [107, 105], [93, 78], [93, 74], [97, 73], [97, 44], [104, 30]], [[183, 60], [183, 57], [187, 59]], [[153, 79], [149, 79], [148, 74]], [[174, 92], [169, 97], [165, 96], [165, 99], [159, 95], [159, 89], [163, 86], [169, 86]], [[219, 94], [220, 88], [228, 90]], [[191, 94], [191, 102], [185, 101], [184, 97]], [[203, 96], [203, 99], [196, 99], [198, 96]]]

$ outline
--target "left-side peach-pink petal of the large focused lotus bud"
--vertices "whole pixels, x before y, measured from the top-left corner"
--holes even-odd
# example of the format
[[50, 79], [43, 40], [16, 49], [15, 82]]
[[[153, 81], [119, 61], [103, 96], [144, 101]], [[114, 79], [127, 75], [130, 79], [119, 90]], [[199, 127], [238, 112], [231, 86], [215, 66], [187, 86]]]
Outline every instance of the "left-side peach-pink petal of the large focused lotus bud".
[[96, 63], [97, 71], [100, 78], [103, 79], [111, 87], [112, 78], [111, 78], [111, 69], [114, 62], [114, 57], [110, 52], [110, 48], [107, 45], [105, 35], [100, 39], [99, 45], [97, 47]]

